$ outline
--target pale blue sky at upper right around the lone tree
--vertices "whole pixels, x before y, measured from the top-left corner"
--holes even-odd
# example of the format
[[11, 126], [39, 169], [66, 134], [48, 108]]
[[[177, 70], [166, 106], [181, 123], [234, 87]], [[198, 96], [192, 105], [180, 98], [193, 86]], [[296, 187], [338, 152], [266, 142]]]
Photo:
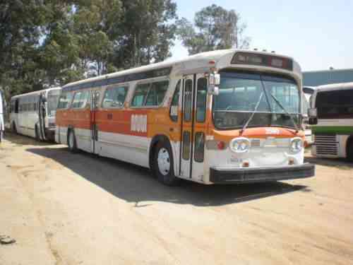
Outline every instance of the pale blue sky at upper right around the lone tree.
[[[234, 9], [246, 23], [250, 49], [267, 49], [293, 57], [302, 71], [353, 69], [352, 0], [174, 0], [177, 14], [193, 21], [201, 8], [217, 4]], [[177, 40], [172, 59], [188, 56]]]

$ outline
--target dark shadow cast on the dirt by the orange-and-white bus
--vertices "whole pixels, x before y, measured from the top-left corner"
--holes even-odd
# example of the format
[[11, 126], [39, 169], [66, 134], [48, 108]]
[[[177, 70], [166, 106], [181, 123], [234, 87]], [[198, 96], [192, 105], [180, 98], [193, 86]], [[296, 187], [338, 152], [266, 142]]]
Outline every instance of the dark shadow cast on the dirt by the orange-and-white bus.
[[203, 185], [185, 181], [180, 187], [167, 187], [157, 182], [148, 169], [119, 160], [83, 152], [72, 154], [67, 148], [28, 148], [27, 151], [55, 160], [119, 199], [134, 203], [136, 207], [149, 206], [152, 201], [220, 206], [289, 192], [311, 191], [306, 186], [285, 182]]

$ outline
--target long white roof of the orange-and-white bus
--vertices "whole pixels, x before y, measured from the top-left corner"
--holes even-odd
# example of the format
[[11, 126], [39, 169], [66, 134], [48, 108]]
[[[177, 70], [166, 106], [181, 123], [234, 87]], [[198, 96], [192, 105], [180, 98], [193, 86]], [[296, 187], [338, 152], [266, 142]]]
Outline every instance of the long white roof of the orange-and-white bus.
[[[292, 59], [291, 57], [287, 57], [280, 54], [273, 54], [270, 52], [258, 52], [258, 51], [244, 50], [244, 49], [243, 50], [242, 49], [220, 49], [217, 51], [202, 52], [199, 54], [194, 54], [189, 57], [185, 57], [184, 59], [178, 59], [174, 61], [166, 60], [156, 64], [149, 64], [147, 66], [140, 66], [133, 69], [118, 71], [115, 73], [108, 73], [103, 76], [96, 76], [93, 78], [83, 79], [80, 81], [66, 84], [65, 86], [63, 86], [63, 90], [71, 90], [71, 89], [75, 90], [78, 88], [85, 88], [84, 84], [86, 83], [95, 83], [95, 86], [103, 86], [103, 81], [107, 81], [110, 79], [116, 80], [115, 82], [112, 81], [110, 83], [125, 83], [128, 81], [138, 80], [138, 78], [134, 79], [133, 75], [136, 75], [136, 77], [138, 77], [137, 74], [151, 73], [151, 71], [156, 71], [160, 69], [165, 70], [165, 73], [167, 73], [167, 74], [164, 74], [164, 76], [168, 75], [172, 71], [172, 68], [174, 67], [178, 68], [180, 73], [187, 73], [188, 70], [191, 71], [193, 69], [205, 69], [206, 67], [210, 69], [210, 66], [217, 67], [217, 62], [219, 62], [224, 57], [229, 57], [229, 61], [231, 61], [232, 57], [236, 52], [250, 52], [252, 54], [268, 54], [272, 56], [277, 56], [277, 57], [279, 56], [282, 58]], [[210, 65], [210, 61], [214, 61], [215, 64]], [[123, 76], [126, 78], [122, 78], [121, 82], [119, 82], [119, 77], [123, 77]], [[160, 76], [162, 76], [162, 74]], [[152, 76], [152, 77], [157, 77], [157, 76]]]

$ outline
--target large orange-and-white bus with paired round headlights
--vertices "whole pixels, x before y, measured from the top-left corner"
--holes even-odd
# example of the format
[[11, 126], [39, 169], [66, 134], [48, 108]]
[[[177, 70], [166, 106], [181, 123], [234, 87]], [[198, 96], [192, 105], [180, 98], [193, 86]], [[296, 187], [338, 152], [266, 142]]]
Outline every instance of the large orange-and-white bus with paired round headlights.
[[56, 142], [147, 167], [160, 182], [270, 182], [304, 163], [301, 70], [290, 57], [226, 49], [68, 83]]

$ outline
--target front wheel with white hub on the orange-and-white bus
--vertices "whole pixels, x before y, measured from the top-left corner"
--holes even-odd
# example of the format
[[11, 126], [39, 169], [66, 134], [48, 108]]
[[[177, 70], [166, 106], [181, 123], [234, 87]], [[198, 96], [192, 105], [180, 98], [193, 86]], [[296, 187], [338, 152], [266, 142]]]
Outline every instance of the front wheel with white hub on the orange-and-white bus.
[[155, 148], [153, 169], [157, 179], [167, 186], [179, 184], [180, 179], [174, 175], [172, 148], [169, 143], [160, 141]]

